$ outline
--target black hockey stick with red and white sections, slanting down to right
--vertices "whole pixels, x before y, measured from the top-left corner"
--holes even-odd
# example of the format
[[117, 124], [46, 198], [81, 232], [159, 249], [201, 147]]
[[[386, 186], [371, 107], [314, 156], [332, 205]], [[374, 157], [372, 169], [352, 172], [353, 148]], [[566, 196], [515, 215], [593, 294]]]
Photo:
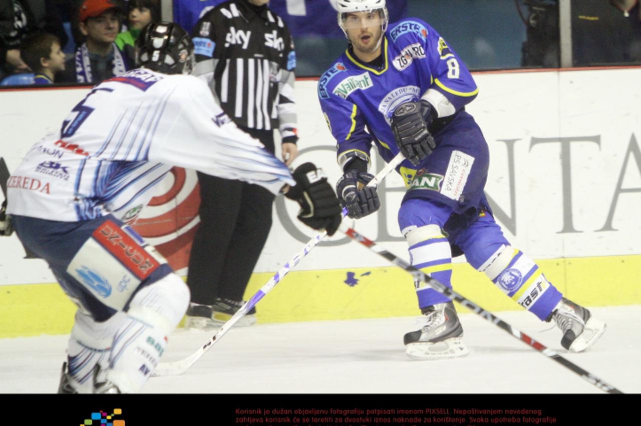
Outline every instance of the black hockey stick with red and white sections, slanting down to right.
[[467, 299], [467, 297], [462, 296], [461, 294], [455, 292], [449, 287], [446, 287], [444, 284], [438, 282], [434, 278], [431, 278], [431, 276], [429, 276], [425, 272], [420, 271], [420, 269], [416, 269], [412, 265], [405, 262], [403, 259], [393, 255], [392, 253], [385, 250], [384, 248], [381, 248], [381, 246], [378, 246], [374, 241], [367, 239], [367, 237], [364, 237], [360, 233], [354, 231], [352, 228], [347, 228], [346, 226], [341, 225], [339, 229], [341, 232], [345, 233], [347, 237], [353, 239], [354, 241], [360, 242], [360, 244], [363, 244], [363, 246], [369, 248], [371, 251], [374, 251], [374, 253], [380, 256], [383, 256], [393, 264], [403, 268], [407, 272], [410, 272], [410, 274], [412, 274], [412, 276], [414, 277], [414, 280], [423, 281], [424, 283], [428, 284], [431, 288], [434, 288], [444, 296], [447, 296], [450, 299], [462, 304], [466, 308], [469, 308], [470, 310], [474, 311], [475, 313], [478, 313], [478, 315], [488, 320], [489, 322], [492, 322], [492, 324], [494, 324], [495, 326], [501, 329], [504, 329], [506, 332], [510, 333], [510, 335], [521, 340], [522, 342], [527, 343], [534, 349], [537, 349], [537, 351], [541, 352], [548, 358], [553, 359], [554, 361], [560, 363], [561, 365], [563, 365], [563, 367], [569, 368], [569, 370], [578, 374], [579, 376], [581, 376], [582, 379], [585, 379], [589, 383], [594, 384], [594, 386], [596, 386], [600, 390], [606, 391], [607, 393], [623, 393], [622, 391], [618, 390], [614, 386], [608, 383], [605, 383], [603, 380], [599, 379], [599, 377], [596, 377], [595, 375], [590, 374], [589, 372], [587, 372], [586, 370], [583, 370], [583, 368], [572, 363], [568, 359], [563, 358], [557, 352], [554, 352], [552, 349], [545, 347], [544, 345], [537, 342], [530, 336], [510, 326], [510, 324], [496, 317], [491, 312], [488, 312], [485, 309], [481, 308], [481, 306], [478, 306], [478, 304], [470, 301], [469, 299]]

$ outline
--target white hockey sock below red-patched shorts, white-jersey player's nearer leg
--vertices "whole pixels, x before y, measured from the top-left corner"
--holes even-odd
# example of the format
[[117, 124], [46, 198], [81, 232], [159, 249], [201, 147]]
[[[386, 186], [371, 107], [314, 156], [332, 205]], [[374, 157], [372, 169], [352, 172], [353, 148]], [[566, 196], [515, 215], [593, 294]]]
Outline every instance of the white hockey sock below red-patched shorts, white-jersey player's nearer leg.
[[142, 288], [133, 298], [126, 320], [113, 337], [107, 372], [122, 393], [138, 392], [147, 382], [188, 303], [187, 285], [176, 274]]

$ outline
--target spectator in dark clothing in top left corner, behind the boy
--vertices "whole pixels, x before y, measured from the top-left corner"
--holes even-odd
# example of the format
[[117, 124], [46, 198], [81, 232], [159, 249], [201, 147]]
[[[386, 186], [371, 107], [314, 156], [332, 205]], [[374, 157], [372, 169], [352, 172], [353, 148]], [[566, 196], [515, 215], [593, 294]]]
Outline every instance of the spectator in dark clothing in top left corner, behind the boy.
[[0, 0], [0, 77], [29, 72], [20, 43], [29, 34], [46, 32], [63, 43], [67, 35], [56, 8], [44, 0]]

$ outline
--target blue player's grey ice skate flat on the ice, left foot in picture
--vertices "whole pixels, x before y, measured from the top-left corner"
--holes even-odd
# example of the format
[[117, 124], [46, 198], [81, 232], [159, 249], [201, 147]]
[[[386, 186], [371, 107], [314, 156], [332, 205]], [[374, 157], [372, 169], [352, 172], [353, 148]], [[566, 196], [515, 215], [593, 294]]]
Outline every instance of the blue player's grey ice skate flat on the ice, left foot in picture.
[[461, 326], [454, 304], [439, 303], [422, 308], [427, 324], [403, 336], [405, 353], [414, 359], [445, 359], [467, 355]]

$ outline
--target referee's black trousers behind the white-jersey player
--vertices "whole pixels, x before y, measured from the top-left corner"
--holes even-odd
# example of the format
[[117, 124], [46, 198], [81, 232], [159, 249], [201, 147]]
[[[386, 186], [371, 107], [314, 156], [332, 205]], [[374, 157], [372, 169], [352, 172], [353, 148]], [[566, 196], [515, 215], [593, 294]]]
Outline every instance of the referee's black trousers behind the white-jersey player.
[[[242, 130], [274, 152], [272, 130]], [[189, 257], [191, 301], [241, 301], [272, 226], [274, 194], [259, 185], [198, 172], [201, 219]]]

